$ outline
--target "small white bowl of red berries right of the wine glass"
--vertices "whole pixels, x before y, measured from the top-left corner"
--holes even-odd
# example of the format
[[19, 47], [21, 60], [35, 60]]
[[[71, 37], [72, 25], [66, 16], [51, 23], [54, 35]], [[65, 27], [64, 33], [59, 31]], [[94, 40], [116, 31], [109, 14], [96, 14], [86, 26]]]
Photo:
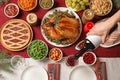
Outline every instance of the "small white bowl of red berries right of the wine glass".
[[95, 53], [86, 52], [83, 54], [83, 62], [88, 65], [93, 65], [97, 60]]

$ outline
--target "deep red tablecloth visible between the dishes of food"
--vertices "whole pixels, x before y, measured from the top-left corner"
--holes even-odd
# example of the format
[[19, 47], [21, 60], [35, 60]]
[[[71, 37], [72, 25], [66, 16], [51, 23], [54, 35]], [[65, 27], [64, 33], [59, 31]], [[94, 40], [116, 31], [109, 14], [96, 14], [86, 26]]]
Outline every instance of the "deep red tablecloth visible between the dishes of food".
[[[17, 4], [17, 0], [10, 0], [10, 2]], [[2, 26], [3, 23], [5, 23], [6, 21], [10, 20], [10, 18], [7, 18], [4, 15], [3, 10], [4, 10], [5, 5], [6, 4], [0, 6], [0, 28], [1, 28], [1, 26]], [[55, 4], [54, 4], [53, 8], [56, 8], [56, 7], [66, 7], [65, 6], [65, 0], [55, 0]], [[41, 35], [40, 23], [41, 23], [41, 20], [42, 20], [43, 16], [45, 15], [45, 13], [47, 11], [48, 10], [43, 10], [42, 8], [40, 8], [39, 5], [37, 6], [37, 8], [35, 10], [31, 11], [31, 12], [36, 13], [37, 16], [38, 16], [38, 18], [39, 18], [39, 20], [40, 20], [39, 25], [32, 26], [32, 29], [33, 29], [33, 32], [34, 32], [34, 38], [33, 38], [33, 40], [39, 39], [39, 40], [45, 41], [44, 38], [43, 38], [43, 36]], [[95, 16], [95, 19], [93, 21], [96, 22], [96, 21], [101, 20], [103, 18], [110, 17], [116, 11], [117, 11], [117, 9], [113, 7], [113, 10], [111, 11], [110, 14], [108, 14], [107, 16], [104, 16], [104, 17]], [[27, 16], [28, 13], [30, 13], [30, 12], [25, 12], [25, 11], [20, 10], [20, 13], [19, 13], [19, 15], [16, 18], [26, 20], [26, 16]], [[81, 17], [82, 16], [82, 11], [81, 12], [77, 12], [77, 14]], [[75, 44], [73, 44], [72, 46], [69, 46], [69, 47], [60, 48], [60, 49], [62, 49], [62, 51], [64, 53], [64, 56], [77, 53], [78, 51], [75, 50], [75, 46], [76, 46], [76, 44], [79, 41], [83, 40], [84, 38], [85, 38], [85, 33], [82, 32], [79, 40]], [[55, 46], [52, 46], [49, 43], [47, 43], [47, 44], [49, 46], [49, 49], [55, 47]], [[13, 51], [9, 51], [9, 50], [5, 49], [1, 44], [0, 44], [0, 49], [7, 51], [11, 55], [22, 55], [24, 57], [28, 57], [26, 49], [24, 49], [22, 51], [19, 51], [19, 52], [13, 52]], [[120, 50], [119, 49], [120, 49], [120, 45], [117, 45], [115, 47], [108, 48], [108, 49], [99, 47], [96, 50], [94, 50], [94, 52], [96, 53], [96, 55], [98, 57], [120, 57]]]

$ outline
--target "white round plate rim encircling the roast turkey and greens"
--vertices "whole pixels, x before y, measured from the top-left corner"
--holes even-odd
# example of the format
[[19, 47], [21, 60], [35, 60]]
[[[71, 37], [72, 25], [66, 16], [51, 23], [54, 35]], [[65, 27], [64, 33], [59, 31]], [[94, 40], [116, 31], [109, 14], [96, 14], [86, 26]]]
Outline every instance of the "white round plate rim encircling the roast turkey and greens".
[[57, 47], [67, 47], [67, 46], [70, 46], [70, 45], [72, 45], [73, 43], [75, 43], [75, 42], [79, 39], [79, 37], [80, 37], [80, 35], [81, 35], [81, 32], [82, 32], [82, 22], [81, 22], [81, 19], [80, 19], [80, 17], [77, 15], [77, 13], [75, 13], [73, 10], [71, 10], [71, 9], [69, 9], [69, 8], [66, 8], [66, 7], [58, 7], [58, 8], [54, 8], [54, 9], [48, 11], [48, 12], [45, 14], [45, 16], [44, 16], [43, 19], [42, 19], [41, 25], [44, 23], [44, 20], [45, 20], [46, 18], [48, 18], [48, 17], [50, 16], [50, 14], [53, 14], [53, 12], [55, 12], [56, 10], [57, 10], [57, 11], [68, 11], [68, 13], [72, 13], [72, 14], [75, 16], [75, 18], [79, 20], [80, 28], [79, 28], [79, 35], [78, 35], [78, 37], [75, 39], [74, 42], [72, 42], [72, 43], [70, 43], [70, 44], [65, 44], [65, 45], [63, 45], [63, 44], [56, 44], [55, 42], [52, 42], [51, 40], [49, 40], [49, 39], [47, 38], [47, 36], [45, 35], [45, 32], [44, 32], [44, 30], [42, 29], [42, 27], [41, 27], [41, 33], [42, 33], [44, 39], [45, 39], [48, 43], [50, 43], [51, 45], [54, 45], [54, 46], [57, 46]]

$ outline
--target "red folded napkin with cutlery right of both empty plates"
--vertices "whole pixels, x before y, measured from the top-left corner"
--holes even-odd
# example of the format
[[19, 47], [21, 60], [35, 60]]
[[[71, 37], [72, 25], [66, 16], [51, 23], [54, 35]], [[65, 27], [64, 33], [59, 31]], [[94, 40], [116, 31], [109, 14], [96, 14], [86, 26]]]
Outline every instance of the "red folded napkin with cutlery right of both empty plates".
[[96, 62], [95, 73], [97, 76], [97, 80], [107, 80], [106, 63], [100, 61]]

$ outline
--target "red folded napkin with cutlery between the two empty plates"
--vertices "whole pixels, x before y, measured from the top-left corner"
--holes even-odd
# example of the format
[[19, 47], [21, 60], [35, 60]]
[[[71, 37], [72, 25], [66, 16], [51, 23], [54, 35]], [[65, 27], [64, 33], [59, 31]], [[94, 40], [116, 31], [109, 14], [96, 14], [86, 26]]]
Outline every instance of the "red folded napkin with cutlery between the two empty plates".
[[[60, 80], [60, 64], [50, 63], [48, 64], [47, 69], [48, 80]], [[52, 77], [52, 79], [50, 79], [50, 77]]]

